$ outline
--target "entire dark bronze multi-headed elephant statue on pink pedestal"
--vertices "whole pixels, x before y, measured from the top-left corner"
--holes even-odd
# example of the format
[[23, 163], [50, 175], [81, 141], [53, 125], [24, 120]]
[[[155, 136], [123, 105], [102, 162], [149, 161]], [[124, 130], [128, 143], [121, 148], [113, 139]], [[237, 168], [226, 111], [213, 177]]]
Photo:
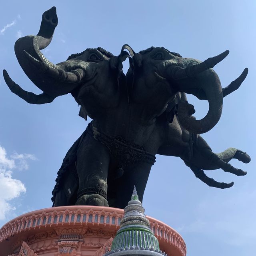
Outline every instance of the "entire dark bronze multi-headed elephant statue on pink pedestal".
[[[246, 153], [234, 149], [227, 154], [214, 154], [198, 135], [216, 125], [223, 95], [237, 89], [246, 77], [245, 70], [222, 90], [211, 68], [228, 51], [200, 62], [164, 48], [135, 53], [124, 45], [119, 56], [102, 48], [86, 49], [54, 65], [40, 49], [50, 44], [57, 23], [53, 7], [44, 12], [37, 36], [25, 36], [15, 44], [20, 66], [42, 94], [24, 91], [3, 72], [10, 90], [26, 102], [44, 104], [71, 93], [81, 105], [80, 116], [93, 119], [58, 171], [54, 206], [124, 208], [134, 185], [142, 200], [156, 154], [179, 156], [209, 186], [225, 188], [230, 184], [220, 186], [207, 181], [202, 169], [222, 168], [237, 175], [246, 174], [225, 165], [231, 158], [248, 162]], [[130, 68], [124, 75], [122, 62], [127, 57]], [[202, 120], [192, 116], [194, 107], [188, 104], [185, 93], [208, 100], [209, 111]], [[207, 165], [209, 159], [211, 165]]]

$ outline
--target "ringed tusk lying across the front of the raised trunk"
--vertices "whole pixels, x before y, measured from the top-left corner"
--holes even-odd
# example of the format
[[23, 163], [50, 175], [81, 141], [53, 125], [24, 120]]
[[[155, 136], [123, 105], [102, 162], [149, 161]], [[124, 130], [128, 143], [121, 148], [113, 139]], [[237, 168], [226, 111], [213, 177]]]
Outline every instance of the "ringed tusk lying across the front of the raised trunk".
[[24, 54], [26, 58], [28, 58], [28, 60], [40, 70], [41, 73], [48, 74], [52, 78], [60, 80], [61, 82], [77, 84], [85, 77], [85, 72], [82, 70], [82, 68], [77, 68], [75, 70], [71, 70], [71, 72], [66, 72], [65, 70], [57, 68], [56, 66], [54, 66], [54, 68], [50, 67], [45, 62], [41, 62], [31, 56], [25, 50]]

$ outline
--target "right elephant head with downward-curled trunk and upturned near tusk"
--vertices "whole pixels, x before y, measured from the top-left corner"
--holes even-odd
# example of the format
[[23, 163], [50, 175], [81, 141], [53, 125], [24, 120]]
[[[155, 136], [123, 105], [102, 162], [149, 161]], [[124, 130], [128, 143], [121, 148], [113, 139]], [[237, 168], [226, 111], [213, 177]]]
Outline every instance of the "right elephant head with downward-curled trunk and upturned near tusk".
[[[134, 54], [134, 90], [143, 87], [143, 92], [151, 91], [157, 95], [166, 108], [168, 102], [176, 97], [177, 92], [194, 94], [203, 92], [209, 102], [209, 110], [204, 118], [196, 120], [194, 106], [180, 101], [178, 104], [178, 119], [188, 131], [200, 134], [212, 129], [222, 113], [222, 87], [218, 75], [212, 68], [223, 60], [229, 51], [208, 58], [201, 62], [192, 58], [182, 58], [177, 53], [163, 47], [151, 47]], [[138, 91], [138, 90], [137, 90]], [[140, 91], [140, 90], [139, 90]], [[136, 92], [137, 93], [137, 92]], [[145, 94], [146, 95], [146, 94]], [[136, 96], [135, 96], [136, 97]], [[200, 97], [198, 97], [200, 98]], [[145, 100], [150, 100], [145, 98]]]

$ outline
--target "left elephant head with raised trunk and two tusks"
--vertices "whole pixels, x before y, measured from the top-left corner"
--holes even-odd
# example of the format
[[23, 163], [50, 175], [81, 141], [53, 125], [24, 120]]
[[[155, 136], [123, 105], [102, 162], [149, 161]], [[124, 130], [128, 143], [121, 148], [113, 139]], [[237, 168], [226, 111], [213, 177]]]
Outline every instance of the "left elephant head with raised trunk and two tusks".
[[[29, 103], [44, 104], [54, 98], [71, 92], [75, 94], [78, 104], [79, 92], [82, 88], [86, 93], [93, 86], [97, 91], [108, 93], [118, 89], [118, 57], [102, 48], [89, 48], [80, 54], [72, 54], [64, 62], [53, 64], [40, 52], [46, 48], [58, 24], [56, 8], [52, 7], [42, 15], [40, 30], [36, 36], [19, 38], [14, 46], [18, 62], [30, 80], [43, 93], [36, 95], [26, 92], [15, 84], [6, 70], [3, 71], [6, 84], [12, 92]], [[110, 86], [111, 84], [111, 86]]]

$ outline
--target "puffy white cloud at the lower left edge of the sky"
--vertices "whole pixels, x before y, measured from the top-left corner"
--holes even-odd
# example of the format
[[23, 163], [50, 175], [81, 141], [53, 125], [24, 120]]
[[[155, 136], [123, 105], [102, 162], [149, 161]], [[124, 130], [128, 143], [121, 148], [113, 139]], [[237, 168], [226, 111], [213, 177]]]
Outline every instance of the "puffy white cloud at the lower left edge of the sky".
[[0, 220], [15, 210], [10, 201], [26, 192], [25, 185], [12, 177], [12, 170], [28, 169], [27, 159], [36, 160], [32, 154], [18, 154], [14, 152], [10, 158], [6, 150], [0, 146]]

